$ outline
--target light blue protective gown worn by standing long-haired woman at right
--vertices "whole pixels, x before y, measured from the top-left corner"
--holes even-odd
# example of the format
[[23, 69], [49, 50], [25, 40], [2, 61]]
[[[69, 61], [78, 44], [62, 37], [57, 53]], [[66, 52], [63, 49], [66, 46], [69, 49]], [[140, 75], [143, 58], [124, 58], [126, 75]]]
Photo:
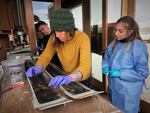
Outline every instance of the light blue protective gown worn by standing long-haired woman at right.
[[112, 51], [110, 43], [102, 65], [110, 70], [120, 70], [120, 77], [109, 76], [109, 93], [112, 103], [125, 113], [138, 113], [140, 96], [148, 76], [148, 53], [143, 41], [117, 42]]

